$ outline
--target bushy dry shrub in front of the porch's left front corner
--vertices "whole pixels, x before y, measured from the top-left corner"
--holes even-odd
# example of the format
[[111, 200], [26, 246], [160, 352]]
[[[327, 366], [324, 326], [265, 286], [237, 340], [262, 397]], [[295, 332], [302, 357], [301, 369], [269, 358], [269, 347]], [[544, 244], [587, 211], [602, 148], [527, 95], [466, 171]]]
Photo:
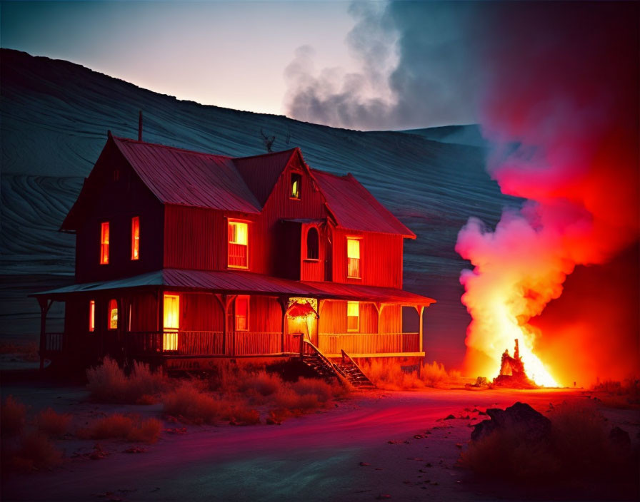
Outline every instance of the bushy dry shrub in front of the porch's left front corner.
[[105, 357], [100, 366], [86, 370], [87, 389], [98, 401], [126, 404], [150, 404], [153, 396], [166, 389], [168, 379], [152, 372], [144, 363], [134, 362], [127, 376], [114, 359]]

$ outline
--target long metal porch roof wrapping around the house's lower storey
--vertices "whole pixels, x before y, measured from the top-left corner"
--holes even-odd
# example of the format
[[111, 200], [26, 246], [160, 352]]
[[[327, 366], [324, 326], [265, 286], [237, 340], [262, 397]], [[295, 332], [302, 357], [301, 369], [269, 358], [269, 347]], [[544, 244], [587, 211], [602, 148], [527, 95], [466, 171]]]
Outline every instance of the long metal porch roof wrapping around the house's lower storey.
[[34, 293], [31, 297], [64, 299], [69, 295], [139, 287], [164, 287], [175, 290], [208, 290], [229, 294], [272, 294], [321, 299], [350, 299], [427, 306], [436, 300], [394, 287], [374, 287], [336, 282], [310, 282], [281, 279], [239, 270], [181, 270], [166, 268], [134, 277], [86, 282]]

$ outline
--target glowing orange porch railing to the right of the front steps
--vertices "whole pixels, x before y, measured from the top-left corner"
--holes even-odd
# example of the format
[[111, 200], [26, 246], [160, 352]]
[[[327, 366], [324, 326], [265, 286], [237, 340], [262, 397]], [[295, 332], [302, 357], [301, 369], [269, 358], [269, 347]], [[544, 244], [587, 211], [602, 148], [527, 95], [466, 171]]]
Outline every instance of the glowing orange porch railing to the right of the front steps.
[[399, 354], [419, 352], [418, 333], [339, 333], [319, 334], [318, 348], [324, 354]]

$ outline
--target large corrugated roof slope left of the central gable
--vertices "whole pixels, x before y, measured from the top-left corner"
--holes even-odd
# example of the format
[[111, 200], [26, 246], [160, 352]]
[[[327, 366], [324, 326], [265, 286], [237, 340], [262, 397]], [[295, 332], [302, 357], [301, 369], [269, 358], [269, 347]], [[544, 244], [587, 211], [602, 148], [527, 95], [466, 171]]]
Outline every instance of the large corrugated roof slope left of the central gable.
[[253, 213], [262, 208], [229, 157], [113, 139], [161, 203]]

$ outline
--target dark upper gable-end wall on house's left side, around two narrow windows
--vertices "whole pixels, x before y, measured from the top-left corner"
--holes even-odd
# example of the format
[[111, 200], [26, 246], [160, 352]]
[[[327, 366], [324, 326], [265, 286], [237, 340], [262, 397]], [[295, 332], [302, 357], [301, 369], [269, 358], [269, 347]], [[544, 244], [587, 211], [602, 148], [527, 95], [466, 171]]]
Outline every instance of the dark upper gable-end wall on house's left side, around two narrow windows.
[[[94, 168], [95, 190], [76, 232], [76, 282], [139, 275], [162, 266], [164, 206], [115, 149]], [[116, 174], [117, 173], [117, 174]], [[131, 218], [140, 217], [140, 258], [131, 260]], [[109, 222], [109, 263], [100, 265], [100, 226]]]

